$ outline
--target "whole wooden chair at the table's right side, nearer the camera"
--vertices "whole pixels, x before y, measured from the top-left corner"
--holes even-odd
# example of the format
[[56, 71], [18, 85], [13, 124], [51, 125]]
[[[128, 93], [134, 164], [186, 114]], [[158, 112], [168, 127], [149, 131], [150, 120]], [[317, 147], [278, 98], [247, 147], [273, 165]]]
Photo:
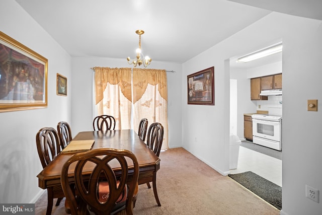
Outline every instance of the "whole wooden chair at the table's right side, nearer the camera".
[[[149, 126], [147, 131], [147, 140], [146, 145], [154, 152], [158, 157], [161, 151], [162, 142], [163, 142], [164, 128], [161, 123], [155, 122]], [[140, 173], [138, 183], [145, 184], [148, 188], [151, 188], [150, 183], [152, 182], [154, 197], [158, 206], [161, 206], [159, 198], [156, 191], [156, 172], [152, 173]]]

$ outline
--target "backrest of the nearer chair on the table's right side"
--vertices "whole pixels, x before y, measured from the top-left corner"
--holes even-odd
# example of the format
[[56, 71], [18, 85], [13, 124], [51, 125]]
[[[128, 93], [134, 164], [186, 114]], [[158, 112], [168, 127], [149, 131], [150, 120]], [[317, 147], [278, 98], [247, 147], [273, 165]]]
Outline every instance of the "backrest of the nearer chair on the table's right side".
[[147, 131], [146, 145], [159, 157], [162, 142], [163, 142], [163, 125], [159, 122], [154, 122], [150, 125]]

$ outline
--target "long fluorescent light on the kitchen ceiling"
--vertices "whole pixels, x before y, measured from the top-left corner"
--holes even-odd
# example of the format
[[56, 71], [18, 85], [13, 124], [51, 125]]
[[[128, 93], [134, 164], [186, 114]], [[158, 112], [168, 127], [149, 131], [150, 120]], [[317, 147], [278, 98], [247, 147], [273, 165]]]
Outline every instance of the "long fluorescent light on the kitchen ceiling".
[[254, 51], [252, 53], [249, 53], [249, 54], [246, 54], [244, 56], [238, 57], [236, 62], [238, 62], [238, 63], [240, 63], [240, 62], [246, 63], [246, 62], [256, 60], [256, 59], [259, 59], [259, 58], [262, 58], [262, 57], [266, 57], [268, 55], [281, 52], [282, 48], [283, 48], [282, 42], [279, 42], [277, 44], [268, 46], [268, 47], [260, 49], [258, 51]]

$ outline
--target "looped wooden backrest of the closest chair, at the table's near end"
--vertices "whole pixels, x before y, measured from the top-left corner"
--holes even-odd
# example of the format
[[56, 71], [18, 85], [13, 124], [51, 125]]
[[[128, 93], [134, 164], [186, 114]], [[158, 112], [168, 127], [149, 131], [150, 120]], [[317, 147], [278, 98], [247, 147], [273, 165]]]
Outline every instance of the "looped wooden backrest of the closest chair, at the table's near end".
[[[116, 172], [109, 165], [115, 162], [120, 166]], [[74, 173], [71, 176], [68, 175], [68, 169], [72, 163], [74, 163]], [[83, 177], [83, 172], [89, 171], [89, 167], [92, 173]], [[131, 172], [133, 170], [131, 177], [128, 177], [129, 169]], [[87, 209], [95, 214], [110, 214], [115, 209], [119, 211], [115, 208], [116, 202], [125, 190], [127, 192], [126, 214], [133, 214], [132, 199], [138, 174], [139, 166], [136, 157], [128, 150], [101, 148], [71, 156], [61, 170], [61, 186], [70, 204], [71, 214], [85, 214], [84, 210]], [[69, 184], [71, 177], [74, 184]], [[105, 187], [108, 184], [109, 190], [109, 193], [104, 196], [99, 190], [102, 182]], [[77, 190], [77, 195], [74, 194], [73, 188]]]

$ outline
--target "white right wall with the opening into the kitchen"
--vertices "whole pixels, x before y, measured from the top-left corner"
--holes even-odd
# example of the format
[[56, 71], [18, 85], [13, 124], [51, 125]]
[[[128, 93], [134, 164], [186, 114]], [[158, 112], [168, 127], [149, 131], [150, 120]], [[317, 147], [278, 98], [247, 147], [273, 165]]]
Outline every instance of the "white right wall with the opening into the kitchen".
[[[322, 171], [319, 171], [322, 113], [306, 111], [307, 99], [322, 99], [321, 23], [271, 13], [183, 64], [183, 80], [196, 71], [215, 67], [215, 106], [187, 105], [186, 98], [183, 99], [184, 148], [226, 174], [229, 172], [226, 59], [283, 39], [283, 214], [321, 214], [322, 211], [322, 204], [306, 198], [304, 192], [305, 184], [322, 190]], [[184, 86], [182, 91], [187, 93]], [[198, 142], [194, 137], [198, 137]]]

